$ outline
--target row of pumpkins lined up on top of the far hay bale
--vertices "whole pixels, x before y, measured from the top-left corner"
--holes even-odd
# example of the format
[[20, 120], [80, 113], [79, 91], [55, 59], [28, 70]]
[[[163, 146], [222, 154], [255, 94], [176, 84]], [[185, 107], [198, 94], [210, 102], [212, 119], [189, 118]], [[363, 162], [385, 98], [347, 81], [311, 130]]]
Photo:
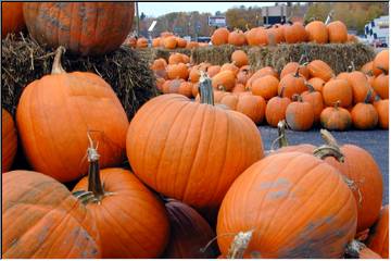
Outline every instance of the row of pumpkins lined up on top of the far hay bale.
[[325, 24], [321, 21], [313, 21], [305, 26], [295, 22], [293, 24], [275, 24], [269, 27], [254, 27], [242, 32], [235, 29], [229, 32], [222, 27], [213, 32], [211, 41], [214, 46], [234, 45], [240, 46], [274, 46], [277, 44], [344, 44], [357, 42], [354, 35], [348, 34], [348, 28], [341, 21]]

